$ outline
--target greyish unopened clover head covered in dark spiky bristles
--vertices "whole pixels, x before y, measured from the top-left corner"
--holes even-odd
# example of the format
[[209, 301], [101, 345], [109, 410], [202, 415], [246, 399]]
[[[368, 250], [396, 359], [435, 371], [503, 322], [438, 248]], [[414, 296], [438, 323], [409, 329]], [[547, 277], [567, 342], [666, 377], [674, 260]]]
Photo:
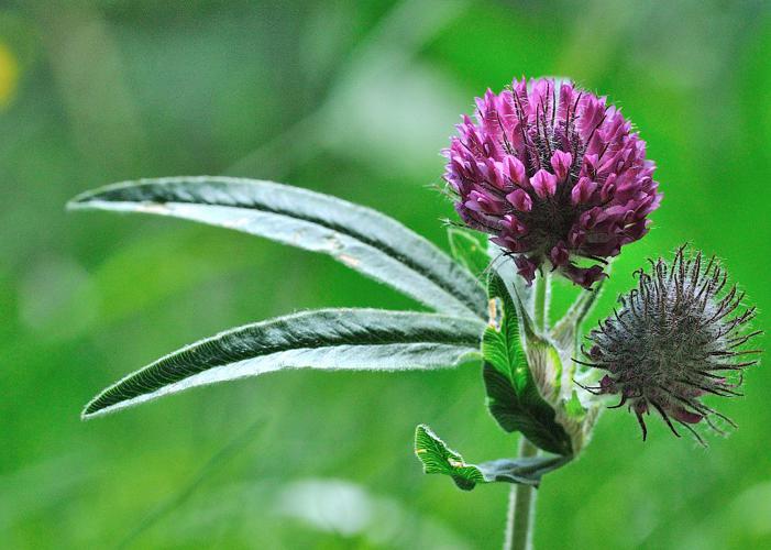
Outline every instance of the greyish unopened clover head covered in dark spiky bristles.
[[652, 408], [675, 436], [682, 427], [704, 444], [695, 425], [718, 433], [736, 427], [702, 398], [741, 395], [742, 371], [759, 362], [760, 350], [748, 344], [761, 332], [749, 329], [756, 308], [742, 306], [745, 294], [727, 285], [714, 256], [686, 257], [682, 246], [670, 265], [662, 258], [650, 264], [636, 273], [638, 287], [619, 298], [620, 308], [587, 337], [587, 361], [580, 363], [607, 374], [586, 389], [620, 395], [612, 408], [627, 405], [643, 440], [643, 415]]

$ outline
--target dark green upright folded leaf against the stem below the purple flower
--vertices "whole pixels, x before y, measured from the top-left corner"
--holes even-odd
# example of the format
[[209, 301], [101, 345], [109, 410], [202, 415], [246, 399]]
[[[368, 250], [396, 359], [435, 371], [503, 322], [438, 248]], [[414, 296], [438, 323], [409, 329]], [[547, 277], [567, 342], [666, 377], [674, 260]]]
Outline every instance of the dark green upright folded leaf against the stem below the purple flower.
[[[535, 364], [533, 361], [559, 362], [559, 354], [553, 349], [542, 346], [524, 352], [521, 342], [529, 330], [525, 327], [528, 323], [527, 312], [516, 308], [497, 274], [491, 276], [488, 294], [491, 308], [496, 311], [483, 336], [482, 354], [487, 406], [493, 417], [504, 430], [520, 431], [546, 451], [571, 454], [570, 437], [555, 420], [555, 410], [546, 400], [533, 377], [533, 366], [540, 372], [548, 372], [543, 364]], [[520, 318], [524, 319], [522, 326]], [[532, 341], [538, 345], [541, 342]], [[530, 343], [528, 340], [528, 345]], [[544, 384], [542, 387], [549, 386]]]

